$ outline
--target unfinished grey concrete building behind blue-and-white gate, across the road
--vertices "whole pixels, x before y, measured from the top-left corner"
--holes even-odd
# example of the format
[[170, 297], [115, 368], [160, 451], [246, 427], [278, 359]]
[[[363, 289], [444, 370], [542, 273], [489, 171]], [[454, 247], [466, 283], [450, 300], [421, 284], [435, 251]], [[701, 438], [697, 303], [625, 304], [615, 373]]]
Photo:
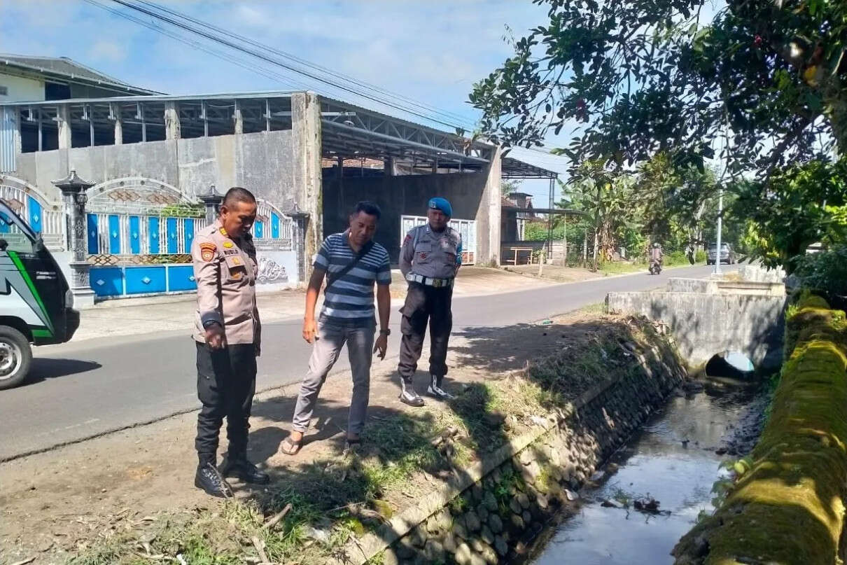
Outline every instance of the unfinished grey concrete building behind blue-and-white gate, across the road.
[[[244, 186], [264, 289], [304, 280], [324, 235], [359, 200], [383, 209], [377, 240], [396, 260], [429, 197], [451, 200], [468, 263], [499, 263], [501, 178], [555, 173], [498, 147], [307, 91], [156, 94], [0, 103], [0, 197], [63, 258], [53, 180], [87, 191], [86, 256], [97, 296], [191, 291], [201, 198]], [[65, 261], [66, 263], [67, 261]]]

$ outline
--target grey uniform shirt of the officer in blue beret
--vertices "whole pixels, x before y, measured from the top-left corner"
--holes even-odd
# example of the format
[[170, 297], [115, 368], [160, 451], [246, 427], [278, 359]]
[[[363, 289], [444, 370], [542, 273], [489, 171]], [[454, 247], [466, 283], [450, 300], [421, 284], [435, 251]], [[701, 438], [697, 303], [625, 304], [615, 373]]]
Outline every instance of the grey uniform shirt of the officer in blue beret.
[[452, 279], [456, 276], [461, 258], [462, 235], [447, 226], [436, 233], [429, 224], [409, 230], [400, 249], [400, 270], [403, 276], [419, 274], [430, 279]]

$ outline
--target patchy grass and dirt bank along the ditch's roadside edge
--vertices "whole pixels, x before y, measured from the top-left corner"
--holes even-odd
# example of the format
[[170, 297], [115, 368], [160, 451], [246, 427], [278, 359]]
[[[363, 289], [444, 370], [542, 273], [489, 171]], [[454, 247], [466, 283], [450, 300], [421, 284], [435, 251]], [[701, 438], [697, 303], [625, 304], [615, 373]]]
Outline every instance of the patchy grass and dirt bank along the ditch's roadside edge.
[[[551, 326], [554, 327], [554, 326]], [[369, 418], [357, 453], [275, 473], [251, 498], [205, 509], [174, 508], [92, 535], [74, 565], [162, 562], [241, 564], [327, 562], [353, 535], [435, 490], [507, 440], [526, 434], [616, 368], [665, 337], [644, 319], [591, 314], [562, 330], [562, 347], [517, 374], [484, 375], [455, 401]], [[274, 522], [285, 508], [285, 515]]]

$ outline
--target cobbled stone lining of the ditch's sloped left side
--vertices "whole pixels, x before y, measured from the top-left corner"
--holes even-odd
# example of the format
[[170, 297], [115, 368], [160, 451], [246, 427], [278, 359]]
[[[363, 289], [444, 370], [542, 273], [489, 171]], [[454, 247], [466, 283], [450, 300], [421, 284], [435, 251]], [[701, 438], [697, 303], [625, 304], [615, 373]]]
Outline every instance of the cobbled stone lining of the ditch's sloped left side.
[[556, 410], [418, 505], [346, 546], [346, 562], [506, 562], [562, 507], [596, 468], [662, 407], [687, 369], [667, 336], [633, 364]]

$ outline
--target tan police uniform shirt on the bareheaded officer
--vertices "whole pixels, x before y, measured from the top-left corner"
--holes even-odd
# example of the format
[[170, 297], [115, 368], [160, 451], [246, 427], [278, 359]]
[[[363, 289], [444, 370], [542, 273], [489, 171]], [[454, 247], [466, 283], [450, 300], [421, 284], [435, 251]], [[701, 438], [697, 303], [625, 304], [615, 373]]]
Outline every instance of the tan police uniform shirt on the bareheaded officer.
[[232, 239], [216, 220], [198, 231], [191, 244], [197, 280], [197, 314], [194, 339], [205, 343], [203, 322], [224, 327], [230, 344], [261, 340], [262, 326], [256, 305], [256, 247], [252, 235]]

